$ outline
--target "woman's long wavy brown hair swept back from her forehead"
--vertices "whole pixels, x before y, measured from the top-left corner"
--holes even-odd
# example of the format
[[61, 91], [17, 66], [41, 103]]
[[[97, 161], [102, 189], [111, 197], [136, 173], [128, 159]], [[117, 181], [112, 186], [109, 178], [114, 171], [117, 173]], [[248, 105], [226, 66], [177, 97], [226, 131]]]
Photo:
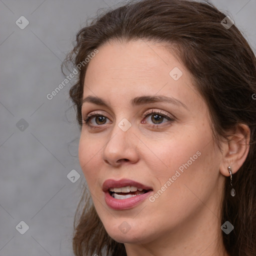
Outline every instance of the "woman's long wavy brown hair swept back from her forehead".
[[[97, 47], [111, 39], [147, 39], [168, 43], [190, 71], [197, 91], [206, 101], [216, 137], [238, 123], [250, 128], [246, 160], [233, 174], [236, 196], [230, 196], [226, 179], [222, 220], [234, 229], [222, 232], [225, 249], [231, 256], [256, 255], [256, 59], [235, 24], [224, 27], [225, 14], [208, 2], [190, 0], [141, 0], [106, 10], [80, 29], [73, 50], [64, 64], [76, 66]], [[227, 21], [225, 20], [225, 23]], [[87, 65], [69, 91], [80, 124], [83, 82]], [[89, 192], [84, 186], [74, 218], [75, 255], [126, 255], [124, 245], [105, 231]]]

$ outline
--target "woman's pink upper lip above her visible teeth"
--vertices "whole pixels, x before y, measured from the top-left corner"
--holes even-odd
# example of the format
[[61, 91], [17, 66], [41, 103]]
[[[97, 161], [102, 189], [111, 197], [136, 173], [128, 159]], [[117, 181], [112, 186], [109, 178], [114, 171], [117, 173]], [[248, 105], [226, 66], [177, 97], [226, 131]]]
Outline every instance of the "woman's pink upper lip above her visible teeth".
[[152, 188], [147, 185], [143, 185], [137, 181], [134, 181], [131, 179], [126, 179], [126, 178], [119, 179], [119, 180], [106, 179], [102, 184], [102, 189], [104, 192], [106, 192], [106, 191], [108, 191], [109, 188], [124, 187], [124, 186], [135, 186], [137, 188], [142, 188], [145, 190], [152, 190]]

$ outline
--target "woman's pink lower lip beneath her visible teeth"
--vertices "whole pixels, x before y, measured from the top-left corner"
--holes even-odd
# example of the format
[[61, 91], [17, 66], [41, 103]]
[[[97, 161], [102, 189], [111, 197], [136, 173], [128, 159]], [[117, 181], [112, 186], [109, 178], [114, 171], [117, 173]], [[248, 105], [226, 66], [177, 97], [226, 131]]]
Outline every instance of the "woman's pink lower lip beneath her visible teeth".
[[112, 197], [108, 191], [106, 191], [105, 192], [105, 202], [110, 208], [112, 208], [114, 210], [129, 209], [129, 208], [136, 206], [140, 202], [142, 202], [142, 200], [144, 200], [146, 197], [148, 197], [151, 192], [152, 192], [152, 190], [150, 190], [144, 194], [139, 194], [139, 195], [129, 197], [126, 199], [116, 199], [116, 198]]

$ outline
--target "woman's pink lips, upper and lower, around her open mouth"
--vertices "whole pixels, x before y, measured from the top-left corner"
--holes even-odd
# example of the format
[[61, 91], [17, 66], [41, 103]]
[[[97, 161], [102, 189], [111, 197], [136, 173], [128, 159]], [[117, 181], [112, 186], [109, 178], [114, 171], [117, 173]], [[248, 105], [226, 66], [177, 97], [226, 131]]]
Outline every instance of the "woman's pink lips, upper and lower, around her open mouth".
[[[115, 199], [108, 192], [108, 189], [110, 187], [123, 187], [123, 186], [136, 186], [137, 188], [143, 188], [143, 189], [149, 190], [149, 191], [147, 191], [144, 194], [139, 194], [139, 195], [136, 195], [136, 196], [133, 196], [130, 198], [126, 198], [126, 199]], [[139, 204], [140, 202], [142, 202], [142, 200], [144, 200], [146, 197], [148, 197], [150, 195], [150, 193], [152, 192], [151, 187], [143, 185], [137, 181], [130, 180], [130, 179], [120, 179], [120, 180], [107, 179], [104, 181], [104, 183], [102, 185], [102, 189], [105, 194], [106, 204], [110, 208], [115, 209], [115, 210], [132, 208], [132, 207], [136, 206], [137, 204]]]

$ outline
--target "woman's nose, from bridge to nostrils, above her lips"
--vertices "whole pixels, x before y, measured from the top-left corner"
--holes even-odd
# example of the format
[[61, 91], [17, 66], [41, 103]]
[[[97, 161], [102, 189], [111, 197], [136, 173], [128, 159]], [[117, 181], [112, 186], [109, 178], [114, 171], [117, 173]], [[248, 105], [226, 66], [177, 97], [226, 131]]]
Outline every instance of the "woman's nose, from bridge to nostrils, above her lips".
[[103, 147], [101, 153], [103, 162], [114, 167], [137, 162], [138, 143], [139, 140], [133, 133], [132, 126], [123, 131], [116, 123]]

